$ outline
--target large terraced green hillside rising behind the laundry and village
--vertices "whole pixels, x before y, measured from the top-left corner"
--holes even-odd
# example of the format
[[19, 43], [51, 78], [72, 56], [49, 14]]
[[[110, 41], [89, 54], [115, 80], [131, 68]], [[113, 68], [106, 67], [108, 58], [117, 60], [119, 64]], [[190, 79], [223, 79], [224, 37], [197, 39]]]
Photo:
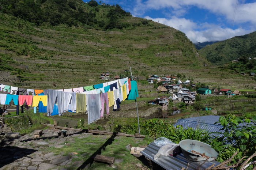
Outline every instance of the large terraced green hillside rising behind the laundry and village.
[[[27, 4], [32, 1], [10, 2]], [[241, 89], [255, 86], [255, 80], [249, 76], [209, 65], [184, 33], [152, 20], [132, 17], [118, 5], [95, 6], [77, 0], [73, 9], [65, 5], [70, 1], [61, 7], [55, 5], [58, 0], [34, 2], [38, 3], [42, 14], [50, 7], [53, 11], [61, 8], [59, 15], [66, 13], [77, 24], [69, 24], [65, 22], [67, 20], [55, 24], [47, 18], [37, 22], [38, 19], [31, 20], [32, 14], [28, 17], [15, 15], [12, 9], [16, 8], [12, 5], [8, 7], [11, 12], [4, 11], [6, 7], [1, 5], [2, 83], [31, 88], [81, 87], [102, 82], [99, 80], [102, 72], [109, 71], [113, 78], [125, 75], [124, 70], [132, 67], [133, 74], [139, 79], [152, 74], [180, 73], [185, 75], [184, 79], [193, 77], [195, 82], [212, 87]], [[95, 14], [92, 15], [93, 23], [76, 20], [75, 16], [72, 18], [69, 12], [77, 12], [79, 6], [84, 15]], [[102, 24], [99, 24], [100, 20]], [[204, 64], [208, 66], [204, 67]]]

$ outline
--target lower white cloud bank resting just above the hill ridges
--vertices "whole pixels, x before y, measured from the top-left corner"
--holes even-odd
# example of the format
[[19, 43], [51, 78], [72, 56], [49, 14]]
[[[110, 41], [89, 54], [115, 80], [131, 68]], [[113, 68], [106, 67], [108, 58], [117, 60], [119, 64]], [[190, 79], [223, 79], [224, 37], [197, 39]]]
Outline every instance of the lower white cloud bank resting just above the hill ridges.
[[[166, 18], [150, 18], [149, 16], [145, 17], [146, 19], [152, 19], [155, 22], [159, 22], [165, 24], [167, 26], [173, 27], [177, 30], [184, 32], [187, 37], [194, 43], [196, 42], [206, 42], [206, 41], [223, 41], [227, 38], [244, 35], [251, 33], [252, 30], [244, 30], [244, 29], [229, 29], [229, 28], [222, 28], [220, 26], [216, 26], [214, 24], [203, 23], [199, 26], [185, 18], [177, 18], [172, 17], [171, 19]], [[203, 29], [203, 30], [199, 30]]]

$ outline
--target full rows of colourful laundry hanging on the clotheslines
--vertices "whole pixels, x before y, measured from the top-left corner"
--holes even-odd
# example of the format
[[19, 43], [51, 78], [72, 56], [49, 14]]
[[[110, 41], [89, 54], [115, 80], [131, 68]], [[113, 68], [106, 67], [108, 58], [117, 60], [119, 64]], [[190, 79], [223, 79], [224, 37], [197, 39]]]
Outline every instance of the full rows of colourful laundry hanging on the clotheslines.
[[[121, 87], [119, 87], [119, 84]], [[1, 86], [1, 88], [4, 88]], [[92, 88], [96, 88], [92, 90]], [[13, 88], [12, 88], [13, 89]], [[74, 88], [73, 88], [74, 89]], [[26, 105], [36, 107], [42, 102], [42, 106], [47, 112], [48, 116], [53, 116], [54, 108], [57, 114], [61, 116], [62, 113], [71, 112], [87, 112], [88, 123], [98, 120], [103, 117], [104, 104], [106, 103], [106, 113], [109, 114], [109, 107], [113, 106], [113, 111], [120, 108], [121, 101], [125, 99], [136, 99], [138, 97], [138, 88], [136, 81], [131, 81], [128, 78], [86, 86], [87, 91], [83, 92], [65, 92], [64, 90], [34, 90], [33, 89], [19, 89], [16, 95], [0, 94], [0, 104], [8, 105], [11, 101], [17, 106], [22, 106], [26, 101]], [[8, 90], [8, 89], [7, 89]], [[27, 90], [27, 92], [26, 92]], [[17, 95], [20, 91], [25, 95]], [[81, 90], [82, 91], [82, 90]], [[27, 95], [32, 92], [32, 95]], [[46, 107], [46, 108], [45, 108]], [[57, 107], [57, 109], [56, 109]], [[19, 109], [17, 109], [18, 112]], [[39, 107], [40, 110], [40, 107]]]

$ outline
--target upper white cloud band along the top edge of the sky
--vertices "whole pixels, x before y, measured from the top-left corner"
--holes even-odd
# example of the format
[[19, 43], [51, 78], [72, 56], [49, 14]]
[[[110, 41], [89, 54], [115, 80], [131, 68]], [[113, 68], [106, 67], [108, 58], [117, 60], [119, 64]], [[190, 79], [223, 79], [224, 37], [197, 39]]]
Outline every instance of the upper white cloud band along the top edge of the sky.
[[[143, 15], [146, 10], [160, 10], [163, 8], [172, 8], [172, 13], [176, 16], [184, 14], [184, 9], [195, 6], [204, 10], [208, 10], [215, 15], [224, 16], [229, 20], [230, 24], [233, 20], [236, 0], [147, 0], [142, 3], [141, 0], [136, 0], [133, 14]], [[241, 1], [238, 4], [236, 11], [235, 23], [250, 22], [256, 26], [256, 2], [244, 3]]]

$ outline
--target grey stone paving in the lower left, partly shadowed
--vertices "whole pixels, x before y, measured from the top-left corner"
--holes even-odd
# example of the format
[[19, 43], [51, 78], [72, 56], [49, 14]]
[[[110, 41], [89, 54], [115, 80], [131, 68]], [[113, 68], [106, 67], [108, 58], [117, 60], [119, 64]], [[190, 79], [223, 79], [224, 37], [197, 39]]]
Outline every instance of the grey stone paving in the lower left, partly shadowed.
[[54, 155], [53, 152], [44, 151], [47, 147], [64, 147], [65, 141], [72, 143], [75, 137], [83, 138], [93, 134], [68, 131], [68, 136], [57, 138], [59, 131], [59, 129], [46, 129], [39, 139], [34, 139], [33, 133], [22, 136], [7, 129], [6, 134], [9, 134], [5, 134], [1, 139], [0, 170], [65, 170], [68, 167], [81, 166], [84, 161], [72, 161], [78, 158], [74, 153]]

